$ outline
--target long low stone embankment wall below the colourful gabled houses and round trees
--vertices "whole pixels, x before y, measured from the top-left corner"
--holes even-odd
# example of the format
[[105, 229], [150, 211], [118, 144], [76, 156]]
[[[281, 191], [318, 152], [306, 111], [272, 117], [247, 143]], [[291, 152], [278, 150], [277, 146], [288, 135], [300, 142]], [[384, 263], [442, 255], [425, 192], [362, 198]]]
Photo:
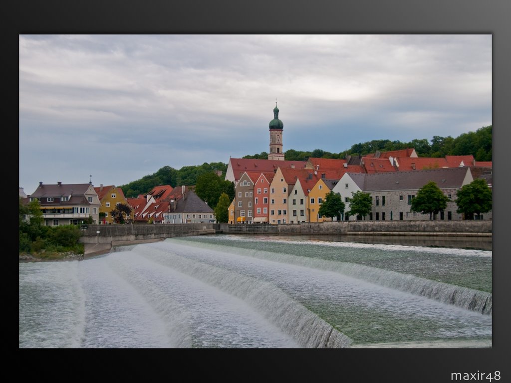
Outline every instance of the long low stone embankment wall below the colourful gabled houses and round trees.
[[375, 235], [492, 235], [492, 221], [349, 221], [287, 225], [219, 224], [223, 233], [252, 234], [375, 234]]

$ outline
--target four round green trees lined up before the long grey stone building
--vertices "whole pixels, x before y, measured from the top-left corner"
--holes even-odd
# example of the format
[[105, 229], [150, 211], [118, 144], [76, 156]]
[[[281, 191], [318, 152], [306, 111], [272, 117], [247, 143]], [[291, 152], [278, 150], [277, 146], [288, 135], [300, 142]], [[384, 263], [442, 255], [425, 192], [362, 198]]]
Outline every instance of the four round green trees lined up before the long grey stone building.
[[[433, 214], [438, 214], [447, 207], [449, 199], [440, 190], [434, 181], [428, 182], [417, 191], [415, 198], [411, 200], [410, 210], [429, 214], [432, 219]], [[464, 219], [471, 220], [474, 214], [480, 216], [492, 210], [492, 190], [486, 184], [484, 179], [475, 179], [470, 184], [463, 185], [457, 192], [456, 198], [457, 212], [463, 213]], [[373, 202], [368, 193], [352, 193], [350, 198], [350, 210], [346, 211], [349, 216], [366, 217], [370, 213]], [[327, 194], [324, 202], [318, 210], [318, 214], [324, 217], [337, 217], [340, 219], [344, 213], [345, 204], [339, 194], [330, 192]]]

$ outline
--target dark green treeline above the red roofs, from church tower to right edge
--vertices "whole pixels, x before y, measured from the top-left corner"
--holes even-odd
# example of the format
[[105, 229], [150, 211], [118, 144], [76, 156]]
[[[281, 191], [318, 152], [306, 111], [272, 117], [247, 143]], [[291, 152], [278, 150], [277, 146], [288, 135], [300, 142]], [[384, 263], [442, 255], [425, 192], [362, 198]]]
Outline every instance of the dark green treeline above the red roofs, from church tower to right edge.
[[[407, 148], [414, 148], [419, 157], [465, 156], [472, 154], [476, 161], [491, 161], [492, 125], [482, 127], [475, 132], [462, 133], [456, 138], [451, 136], [433, 136], [430, 141], [422, 138], [412, 139], [409, 142], [391, 141], [388, 139], [371, 140], [356, 143], [350, 149], [340, 153], [330, 153], [321, 149], [316, 149], [312, 152], [289, 149], [286, 151], [286, 160], [307, 161], [309, 157], [344, 159], [347, 155], [366, 155], [376, 153], [376, 151], [388, 152]], [[267, 159], [268, 153], [261, 152], [243, 158]]]

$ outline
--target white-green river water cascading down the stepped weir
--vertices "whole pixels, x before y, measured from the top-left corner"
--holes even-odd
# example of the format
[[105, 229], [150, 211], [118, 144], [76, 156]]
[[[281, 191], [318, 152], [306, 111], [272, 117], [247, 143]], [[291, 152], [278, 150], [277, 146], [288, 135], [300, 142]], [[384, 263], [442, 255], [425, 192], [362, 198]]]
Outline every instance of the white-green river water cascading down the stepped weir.
[[[437, 262], [460, 265], [439, 271]], [[491, 280], [491, 252], [170, 238], [81, 262], [20, 264], [19, 344], [491, 347], [491, 291], [468, 275], [488, 265]]]

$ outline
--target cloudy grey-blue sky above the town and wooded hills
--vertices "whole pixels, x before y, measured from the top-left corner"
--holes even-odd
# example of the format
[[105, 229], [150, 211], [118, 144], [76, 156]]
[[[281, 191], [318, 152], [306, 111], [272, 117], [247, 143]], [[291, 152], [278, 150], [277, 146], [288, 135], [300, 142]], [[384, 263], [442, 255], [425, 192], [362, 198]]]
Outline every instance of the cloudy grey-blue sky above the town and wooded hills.
[[[491, 35], [20, 35], [19, 186], [492, 124]], [[91, 177], [90, 177], [91, 176]]]

